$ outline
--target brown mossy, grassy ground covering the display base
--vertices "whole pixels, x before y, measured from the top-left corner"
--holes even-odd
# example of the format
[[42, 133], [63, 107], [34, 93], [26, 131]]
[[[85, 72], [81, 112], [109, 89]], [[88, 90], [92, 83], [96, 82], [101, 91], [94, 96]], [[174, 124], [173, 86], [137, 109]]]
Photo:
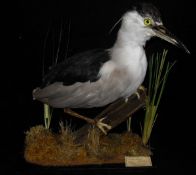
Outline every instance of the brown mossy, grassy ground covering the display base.
[[125, 156], [149, 156], [137, 134], [109, 133], [100, 136], [92, 128], [82, 144], [74, 142], [75, 133], [60, 125], [59, 134], [38, 125], [26, 132], [24, 157], [27, 162], [42, 166], [75, 166], [124, 163]]

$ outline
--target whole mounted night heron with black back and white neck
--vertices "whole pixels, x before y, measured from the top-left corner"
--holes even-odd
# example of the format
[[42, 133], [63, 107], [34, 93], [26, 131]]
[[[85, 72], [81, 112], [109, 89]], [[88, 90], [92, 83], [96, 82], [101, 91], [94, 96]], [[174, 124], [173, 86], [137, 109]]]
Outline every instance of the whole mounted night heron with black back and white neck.
[[95, 49], [76, 54], [52, 67], [33, 97], [54, 108], [64, 108], [73, 116], [95, 123], [103, 132], [110, 126], [70, 112], [70, 108], [108, 105], [119, 98], [125, 101], [137, 92], [147, 70], [146, 41], [157, 36], [183, 48], [186, 46], [164, 26], [160, 13], [151, 4], [140, 4], [122, 18], [116, 42], [110, 49]]

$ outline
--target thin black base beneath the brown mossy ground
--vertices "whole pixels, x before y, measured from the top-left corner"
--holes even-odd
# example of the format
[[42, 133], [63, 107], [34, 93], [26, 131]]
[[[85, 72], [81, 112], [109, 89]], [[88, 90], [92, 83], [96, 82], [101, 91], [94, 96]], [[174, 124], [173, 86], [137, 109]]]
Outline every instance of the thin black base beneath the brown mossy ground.
[[103, 175], [130, 175], [130, 174], [155, 174], [156, 167], [134, 167], [127, 168], [124, 164], [109, 165], [88, 165], [73, 167], [43, 167], [24, 163], [20, 173], [22, 175], [86, 175], [86, 174], [103, 174]]

